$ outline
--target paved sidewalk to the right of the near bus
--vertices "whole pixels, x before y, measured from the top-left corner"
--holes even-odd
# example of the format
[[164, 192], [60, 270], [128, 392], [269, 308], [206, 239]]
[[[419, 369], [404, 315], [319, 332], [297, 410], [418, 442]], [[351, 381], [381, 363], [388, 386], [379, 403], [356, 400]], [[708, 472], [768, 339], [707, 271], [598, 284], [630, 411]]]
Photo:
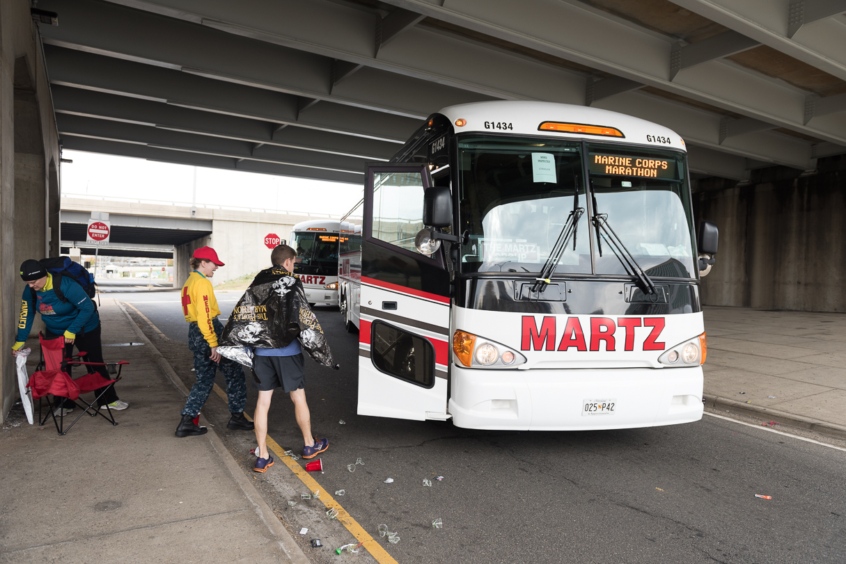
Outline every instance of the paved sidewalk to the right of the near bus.
[[846, 315], [706, 307], [705, 330], [708, 407], [846, 439]]

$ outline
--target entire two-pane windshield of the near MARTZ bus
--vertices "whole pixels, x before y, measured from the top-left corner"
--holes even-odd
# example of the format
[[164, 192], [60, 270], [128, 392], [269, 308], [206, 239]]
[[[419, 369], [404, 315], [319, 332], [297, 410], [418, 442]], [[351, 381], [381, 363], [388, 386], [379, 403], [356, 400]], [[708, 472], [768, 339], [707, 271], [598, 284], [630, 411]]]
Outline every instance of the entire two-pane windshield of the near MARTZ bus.
[[586, 196], [582, 146], [547, 139], [459, 140], [457, 232], [469, 233], [461, 246], [462, 272], [539, 273], [574, 214], [580, 215], [575, 233], [553, 274], [632, 275], [591, 225], [591, 197], [591, 213], [602, 215], [649, 276], [695, 277], [684, 156], [588, 144]]

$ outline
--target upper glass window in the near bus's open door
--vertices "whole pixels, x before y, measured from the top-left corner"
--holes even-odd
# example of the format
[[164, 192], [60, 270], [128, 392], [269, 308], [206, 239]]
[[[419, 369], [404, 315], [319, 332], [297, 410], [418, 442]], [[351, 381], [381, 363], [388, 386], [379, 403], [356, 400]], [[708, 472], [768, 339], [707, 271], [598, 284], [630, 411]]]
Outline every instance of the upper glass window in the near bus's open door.
[[373, 187], [372, 237], [416, 253], [424, 227], [420, 172], [376, 172]]

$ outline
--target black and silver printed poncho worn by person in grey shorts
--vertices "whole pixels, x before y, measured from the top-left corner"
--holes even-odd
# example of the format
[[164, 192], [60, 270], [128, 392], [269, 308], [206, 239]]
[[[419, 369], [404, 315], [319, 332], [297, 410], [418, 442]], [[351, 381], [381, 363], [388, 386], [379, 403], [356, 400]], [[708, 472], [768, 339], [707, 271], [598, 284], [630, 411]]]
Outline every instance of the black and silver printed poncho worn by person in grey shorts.
[[256, 275], [239, 299], [219, 340], [217, 352], [252, 366], [252, 349], [283, 348], [294, 339], [318, 364], [337, 370], [317, 317], [309, 308], [303, 283], [281, 266]]

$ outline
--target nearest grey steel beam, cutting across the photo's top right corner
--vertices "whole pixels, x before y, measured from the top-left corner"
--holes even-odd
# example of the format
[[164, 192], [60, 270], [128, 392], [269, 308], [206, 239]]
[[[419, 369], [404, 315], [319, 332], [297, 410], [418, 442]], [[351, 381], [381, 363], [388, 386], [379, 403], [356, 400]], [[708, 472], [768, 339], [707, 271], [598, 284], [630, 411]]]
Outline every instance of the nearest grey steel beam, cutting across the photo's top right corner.
[[846, 80], [846, 28], [834, 18], [803, 25], [789, 36], [788, 3], [772, 0], [673, 0], [755, 41]]

